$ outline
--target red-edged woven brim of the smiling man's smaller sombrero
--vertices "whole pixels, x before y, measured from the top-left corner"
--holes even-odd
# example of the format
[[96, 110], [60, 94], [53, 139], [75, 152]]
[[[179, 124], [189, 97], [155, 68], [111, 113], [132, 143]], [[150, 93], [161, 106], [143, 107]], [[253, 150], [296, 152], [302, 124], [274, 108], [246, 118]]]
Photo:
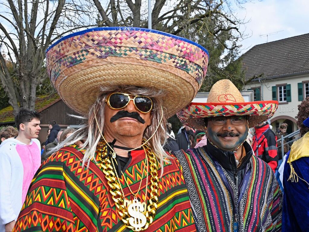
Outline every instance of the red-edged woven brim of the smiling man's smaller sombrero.
[[271, 118], [278, 108], [277, 101], [252, 101], [233, 103], [190, 103], [177, 113], [184, 125], [205, 130], [204, 118], [248, 115], [249, 128]]

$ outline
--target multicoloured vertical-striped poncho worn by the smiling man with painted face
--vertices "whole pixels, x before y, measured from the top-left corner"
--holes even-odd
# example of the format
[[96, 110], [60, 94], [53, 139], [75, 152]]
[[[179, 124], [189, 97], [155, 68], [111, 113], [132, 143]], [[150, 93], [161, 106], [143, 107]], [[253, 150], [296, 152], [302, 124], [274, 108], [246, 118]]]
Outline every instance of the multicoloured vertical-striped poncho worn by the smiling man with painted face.
[[[183, 168], [198, 231], [281, 231], [282, 193], [269, 165], [252, 156], [236, 190], [234, 180], [206, 149], [175, 153]], [[238, 201], [235, 196], [239, 196]]]

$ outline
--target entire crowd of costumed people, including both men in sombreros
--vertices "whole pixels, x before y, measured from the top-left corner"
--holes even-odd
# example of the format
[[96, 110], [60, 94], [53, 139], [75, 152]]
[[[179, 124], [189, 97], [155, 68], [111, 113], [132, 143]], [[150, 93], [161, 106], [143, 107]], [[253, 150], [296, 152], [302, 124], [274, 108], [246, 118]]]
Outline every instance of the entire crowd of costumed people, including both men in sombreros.
[[[71, 59], [81, 45], [83, 61]], [[50, 79], [85, 124], [52, 120], [40, 144], [40, 115], [21, 109], [17, 130], [0, 131], [0, 232], [307, 231], [309, 97], [298, 107], [302, 138], [288, 151], [277, 144], [287, 125], [276, 134], [268, 123], [277, 101], [245, 102], [222, 79], [206, 102], [191, 102], [208, 56], [192, 41], [136, 28], [86, 30], [53, 45]], [[178, 133], [167, 122], [174, 114]]]

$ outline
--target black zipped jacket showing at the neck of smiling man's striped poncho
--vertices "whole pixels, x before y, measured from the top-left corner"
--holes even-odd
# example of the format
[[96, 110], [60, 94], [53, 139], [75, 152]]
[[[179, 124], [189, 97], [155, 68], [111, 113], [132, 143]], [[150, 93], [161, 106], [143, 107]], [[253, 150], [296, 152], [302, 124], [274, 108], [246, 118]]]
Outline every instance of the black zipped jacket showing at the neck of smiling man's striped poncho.
[[232, 180], [234, 180], [234, 182], [238, 184], [238, 187], [240, 187], [240, 184], [243, 180], [243, 175], [245, 174], [245, 167], [247, 166], [251, 156], [253, 155], [252, 148], [247, 141], [243, 143], [243, 146], [246, 151], [246, 156], [243, 158], [242, 163], [237, 168], [236, 159], [233, 152], [222, 151], [221, 149], [214, 147], [209, 142], [209, 140], [207, 140], [206, 145], [207, 153], [214, 160], [217, 160], [220, 163], [220, 165], [226, 170]]

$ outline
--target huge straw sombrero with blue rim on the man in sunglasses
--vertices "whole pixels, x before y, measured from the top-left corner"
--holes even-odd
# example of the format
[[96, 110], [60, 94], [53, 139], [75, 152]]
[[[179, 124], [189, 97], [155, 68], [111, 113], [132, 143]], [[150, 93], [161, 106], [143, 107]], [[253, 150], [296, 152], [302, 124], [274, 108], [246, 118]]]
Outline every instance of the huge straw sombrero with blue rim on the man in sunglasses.
[[106, 85], [165, 90], [166, 116], [190, 103], [205, 78], [208, 52], [187, 39], [145, 28], [92, 28], [63, 37], [46, 52], [63, 101], [87, 114]]

